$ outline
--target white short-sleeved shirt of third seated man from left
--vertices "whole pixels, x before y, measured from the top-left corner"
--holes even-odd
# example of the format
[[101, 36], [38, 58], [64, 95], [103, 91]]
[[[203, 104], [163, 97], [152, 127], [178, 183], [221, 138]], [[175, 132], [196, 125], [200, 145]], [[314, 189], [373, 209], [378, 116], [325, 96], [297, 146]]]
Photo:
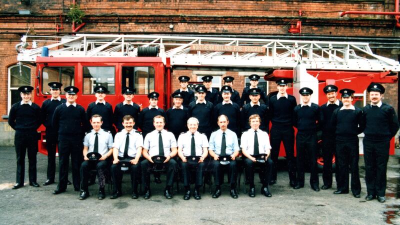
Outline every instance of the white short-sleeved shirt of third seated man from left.
[[[147, 133], [144, 137], [143, 148], [148, 149], [148, 154], [150, 157], [158, 155], [158, 130]], [[161, 130], [162, 146], [164, 148], [164, 155], [167, 156], [171, 152], [171, 147], [177, 147], [175, 136], [172, 132]]]

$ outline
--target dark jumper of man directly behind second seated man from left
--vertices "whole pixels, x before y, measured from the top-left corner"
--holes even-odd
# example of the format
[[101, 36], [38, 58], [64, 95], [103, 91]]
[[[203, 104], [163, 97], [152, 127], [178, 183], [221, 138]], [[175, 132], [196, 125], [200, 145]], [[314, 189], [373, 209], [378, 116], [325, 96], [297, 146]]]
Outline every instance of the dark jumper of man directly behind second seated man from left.
[[138, 124], [137, 119], [139, 117], [139, 112], [140, 112], [140, 106], [134, 102], [131, 102], [131, 104], [120, 102], [117, 105], [115, 105], [113, 117], [114, 117], [114, 125], [116, 126], [118, 131], [121, 131], [124, 128], [122, 125], [122, 118], [125, 115], [131, 115], [134, 118], [135, 125], [133, 127], [136, 129]]

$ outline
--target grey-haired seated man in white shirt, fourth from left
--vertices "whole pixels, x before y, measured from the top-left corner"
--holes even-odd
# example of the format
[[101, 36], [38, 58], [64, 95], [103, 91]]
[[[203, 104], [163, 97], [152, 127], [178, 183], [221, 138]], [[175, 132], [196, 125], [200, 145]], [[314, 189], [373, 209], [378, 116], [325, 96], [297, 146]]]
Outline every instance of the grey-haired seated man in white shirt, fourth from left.
[[183, 172], [183, 185], [185, 188], [184, 200], [190, 198], [190, 168], [195, 168], [195, 186], [194, 186], [194, 199], [201, 198], [200, 191], [202, 186], [203, 171], [204, 171], [204, 158], [208, 154], [208, 140], [204, 133], [197, 131], [198, 119], [190, 117], [187, 119], [186, 132], [182, 132], [178, 137], [178, 155], [180, 158], [180, 167]]

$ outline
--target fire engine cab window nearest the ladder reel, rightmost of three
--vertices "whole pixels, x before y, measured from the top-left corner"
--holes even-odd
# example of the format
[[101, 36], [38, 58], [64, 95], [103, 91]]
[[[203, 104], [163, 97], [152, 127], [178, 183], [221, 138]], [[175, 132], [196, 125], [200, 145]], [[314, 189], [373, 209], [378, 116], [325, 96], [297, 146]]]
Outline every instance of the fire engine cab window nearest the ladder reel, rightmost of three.
[[122, 66], [122, 88], [133, 86], [135, 94], [154, 91], [154, 68], [150, 66]]

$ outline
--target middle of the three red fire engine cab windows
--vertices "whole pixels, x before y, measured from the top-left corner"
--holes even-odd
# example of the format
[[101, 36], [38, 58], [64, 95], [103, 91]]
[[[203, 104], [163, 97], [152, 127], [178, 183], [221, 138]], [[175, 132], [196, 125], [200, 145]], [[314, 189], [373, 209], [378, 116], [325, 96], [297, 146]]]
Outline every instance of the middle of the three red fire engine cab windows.
[[83, 94], [92, 94], [96, 86], [105, 86], [109, 94], [115, 93], [114, 66], [83, 66]]

